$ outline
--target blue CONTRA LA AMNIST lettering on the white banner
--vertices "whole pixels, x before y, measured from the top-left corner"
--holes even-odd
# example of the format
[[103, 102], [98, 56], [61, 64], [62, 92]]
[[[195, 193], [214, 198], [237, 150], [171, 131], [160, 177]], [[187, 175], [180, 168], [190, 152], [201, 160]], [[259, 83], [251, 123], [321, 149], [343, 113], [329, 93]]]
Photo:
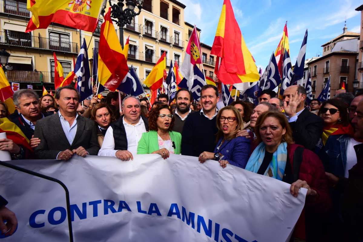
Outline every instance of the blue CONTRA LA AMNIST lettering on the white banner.
[[[102, 200], [95, 200], [88, 202], [89, 206], [92, 206], [93, 210], [93, 217], [98, 217], [98, 205], [102, 204]], [[126, 201], [119, 201], [118, 208], [115, 208], [115, 201], [113, 200], [103, 200], [103, 214], [107, 215], [111, 211], [111, 213], [119, 213], [122, 212], [122, 210], [127, 210], [129, 212], [132, 212], [130, 209], [130, 206], [127, 204]], [[101, 205], [102, 206], [102, 205]], [[117, 205], [116, 205], [117, 206]], [[141, 201], [136, 201], [137, 206], [137, 212], [153, 215], [156, 214], [157, 216], [162, 216], [160, 213], [160, 210], [158, 208], [158, 205], [156, 203], [150, 203], [148, 210], [142, 210]], [[80, 209], [82, 207], [82, 211]], [[102, 208], [102, 207], [101, 207]], [[116, 210], [117, 209], [117, 210]], [[80, 220], [87, 218], [87, 202], [83, 202], [82, 206], [79, 206], [77, 204], [70, 205], [70, 212], [71, 212], [71, 220], [74, 221], [74, 214], [77, 214], [77, 217]], [[56, 213], [60, 213], [60, 218], [58, 220], [54, 219], [54, 215]], [[48, 223], [51, 225], [58, 225], [66, 220], [67, 212], [66, 209], [63, 207], [55, 207], [49, 210], [48, 216], [44, 216], [46, 214], [46, 210], [37, 210], [33, 212], [29, 217], [29, 225], [32, 228], [41, 228], [45, 226], [45, 218], [48, 218]], [[187, 209], [184, 208], [184, 206], [181, 206], [181, 213], [178, 204], [172, 203], [170, 205], [167, 217], [176, 216], [181, 220], [183, 223], [185, 222], [186, 225], [189, 227], [191, 226], [192, 229], [195, 229], [195, 216], [196, 214], [190, 211], [187, 211]], [[37, 222], [36, 222], [37, 220]], [[208, 226], [203, 216], [197, 215], [197, 229], [196, 231], [198, 233], [201, 233], [201, 227], [203, 227], [204, 234], [208, 237], [212, 238], [212, 227], [213, 227], [213, 221], [208, 219]], [[214, 236], [213, 239], [216, 242], [219, 242], [219, 238], [223, 238], [224, 240], [220, 240], [221, 242], [248, 242], [247, 240], [241, 238], [237, 234], [234, 234], [231, 230], [227, 228], [221, 227], [219, 223], [214, 222]], [[220, 233], [221, 231], [221, 233]], [[0, 237], [1, 239], [1, 237]], [[252, 242], [257, 242], [256, 240]]]

